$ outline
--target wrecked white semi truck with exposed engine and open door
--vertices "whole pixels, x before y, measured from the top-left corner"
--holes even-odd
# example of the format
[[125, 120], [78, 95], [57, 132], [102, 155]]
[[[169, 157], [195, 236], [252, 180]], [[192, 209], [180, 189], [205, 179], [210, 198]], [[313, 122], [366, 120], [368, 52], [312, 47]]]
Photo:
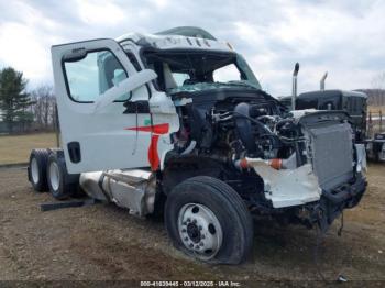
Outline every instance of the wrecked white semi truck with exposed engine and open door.
[[201, 29], [56, 45], [52, 59], [62, 148], [32, 151], [34, 189], [163, 213], [200, 261], [244, 261], [256, 217], [327, 231], [365, 191], [346, 113], [288, 111]]

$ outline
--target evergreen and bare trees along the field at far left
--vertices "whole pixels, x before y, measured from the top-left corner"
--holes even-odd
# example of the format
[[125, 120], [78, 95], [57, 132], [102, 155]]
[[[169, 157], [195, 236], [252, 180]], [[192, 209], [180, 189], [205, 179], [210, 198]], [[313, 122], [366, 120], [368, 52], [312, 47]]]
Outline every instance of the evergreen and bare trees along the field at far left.
[[55, 126], [56, 98], [50, 85], [26, 90], [23, 73], [0, 69], [0, 133], [47, 131]]

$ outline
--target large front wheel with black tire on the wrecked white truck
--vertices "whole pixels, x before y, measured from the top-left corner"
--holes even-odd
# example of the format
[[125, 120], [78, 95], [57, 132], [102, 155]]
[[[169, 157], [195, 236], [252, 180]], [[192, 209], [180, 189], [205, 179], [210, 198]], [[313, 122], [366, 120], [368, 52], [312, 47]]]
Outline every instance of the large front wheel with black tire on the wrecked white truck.
[[250, 255], [253, 221], [241, 197], [227, 184], [198, 176], [167, 197], [165, 223], [174, 246], [216, 264], [239, 264]]

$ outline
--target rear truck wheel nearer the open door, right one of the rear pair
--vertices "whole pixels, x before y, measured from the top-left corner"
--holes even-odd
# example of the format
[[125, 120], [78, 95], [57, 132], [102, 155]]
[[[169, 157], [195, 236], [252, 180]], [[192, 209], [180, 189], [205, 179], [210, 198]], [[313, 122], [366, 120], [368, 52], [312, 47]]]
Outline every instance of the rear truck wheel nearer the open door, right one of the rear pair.
[[47, 164], [47, 184], [52, 196], [65, 200], [78, 190], [79, 175], [67, 173], [63, 151], [52, 151]]

